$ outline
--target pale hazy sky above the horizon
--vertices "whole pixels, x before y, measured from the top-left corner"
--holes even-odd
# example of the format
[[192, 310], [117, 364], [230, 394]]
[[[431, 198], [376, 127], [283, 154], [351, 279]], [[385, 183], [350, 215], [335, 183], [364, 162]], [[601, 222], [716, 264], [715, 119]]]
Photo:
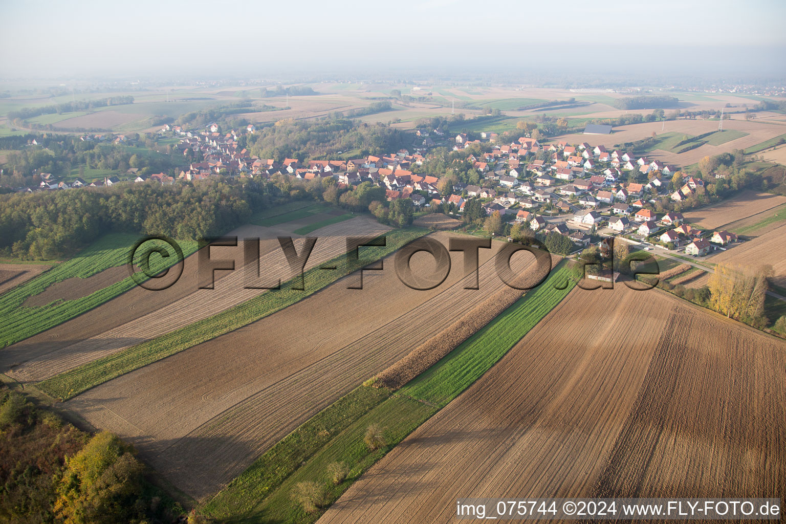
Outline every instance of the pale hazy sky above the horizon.
[[0, 77], [595, 68], [786, 73], [784, 0], [12, 2]]

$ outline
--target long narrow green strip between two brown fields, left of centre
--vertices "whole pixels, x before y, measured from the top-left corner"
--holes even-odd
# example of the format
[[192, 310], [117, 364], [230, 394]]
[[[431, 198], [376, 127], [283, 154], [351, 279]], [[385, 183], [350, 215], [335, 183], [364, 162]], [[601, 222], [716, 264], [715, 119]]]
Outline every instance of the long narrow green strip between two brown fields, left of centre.
[[61, 400], [74, 398], [91, 387], [96, 387], [127, 372], [132, 372], [134, 369], [152, 364], [152, 362], [160, 361], [164, 357], [169, 357], [189, 347], [215, 339], [219, 335], [242, 328], [244, 325], [291, 306], [341, 277], [391, 254], [399, 247], [426, 233], [428, 233], [427, 229], [414, 227], [394, 229], [385, 233], [384, 236], [387, 238], [385, 247], [365, 247], [361, 250], [360, 259], [357, 262], [350, 262], [346, 255], [340, 255], [321, 264], [321, 266], [336, 266], [335, 271], [322, 270], [321, 266], [307, 270], [303, 273], [305, 291], [292, 289], [300, 285], [300, 277], [294, 277], [282, 283], [280, 290], [266, 291], [242, 304], [176, 329], [174, 332], [53, 376], [36, 384], [36, 387], [54, 398]]

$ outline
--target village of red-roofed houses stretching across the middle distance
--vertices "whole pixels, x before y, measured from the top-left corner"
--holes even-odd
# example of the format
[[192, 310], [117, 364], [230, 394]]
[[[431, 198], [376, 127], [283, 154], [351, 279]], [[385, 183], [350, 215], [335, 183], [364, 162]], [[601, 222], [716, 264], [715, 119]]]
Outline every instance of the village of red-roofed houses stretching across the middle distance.
[[[608, 133], [605, 126], [590, 126], [586, 133]], [[610, 126], [609, 126], [610, 127]], [[598, 129], [601, 128], [601, 129]], [[681, 174], [677, 167], [634, 156], [620, 150], [607, 151], [602, 145], [587, 142], [571, 145], [565, 141], [541, 144], [531, 137], [519, 137], [510, 144], [498, 144], [496, 133], [480, 133], [470, 140], [460, 133], [446, 136], [439, 129], [418, 129], [414, 133], [413, 152], [401, 149], [384, 156], [360, 159], [301, 160], [260, 159], [238, 145], [244, 134], [255, 133], [249, 124], [240, 130], [222, 132], [211, 123], [203, 130], [185, 130], [182, 126], [163, 126], [159, 134], [175, 137], [175, 156], [186, 162], [177, 176], [167, 173], [139, 174], [130, 168], [126, 176], [103, 180], [57, 181], [42, 173], [39, 188], [28, 192], [79, 187], [100, 187], [122, 181], [146, 181], [172, 184], [176, 180], [200, 181], [216, 176], [273, 178], [277, 175], [310, 181], [332, 178], [340, 189], [352, 189], [364, 181], [385, 189], [388, 201], [409, 199], [416, 212], [446, 211], [461, 218], [471, 200], [479, 200], [486, 216], [498, 213], [503, 223], [521, 224], [541, 238], [556, 232], [575, 245], [575, 251], [593, 240], [615, 236], [645, 250], [660, 254], [684, 252], [703, 257], [714, 250], [725, 250], [739, 242], [725, 230], [707, 231], [685, 223], [679, 212], [656, 213], [658, 199], [668, 197], [682, 202], [703, 189], [703, 181]], [[110, 141], [122, 144], [123, 135], [83, 135], [83, 141]], [[454, 152], [467, 152], [465, 161], [478, 173], [478, 184], [454, 182], [441, 186], [439, 177], [417, 174], [436, 145], [448, 145]], [[472, 148], [478, 145], [479, 148]], [[476, 152], [486, 150], [481, 154]], [[189, 161], [191, 159], [191, 161]], [[195, 161], [193, 159], [198, 159]], [[646, 179], [646, 183], [634, 180]], [[512, 240], [509, 238], [509, 240]]]

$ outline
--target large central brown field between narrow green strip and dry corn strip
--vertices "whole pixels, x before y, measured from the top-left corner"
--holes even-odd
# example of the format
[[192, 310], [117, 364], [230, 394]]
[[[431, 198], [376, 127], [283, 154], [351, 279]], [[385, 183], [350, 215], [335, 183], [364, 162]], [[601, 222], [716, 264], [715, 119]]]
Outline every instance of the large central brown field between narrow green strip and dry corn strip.
[[[446, 243], [448, 233], [434, 233]], [[462, 254], [447, 280], [413, 290], [393, 271], [366, 272], [287, 309], [66, 402], [95, 427], [134, 442], [141, 457], [194, 497], [215, 493], [271, 445], [364, 379], [462, 317], [468, 304], [501, 289], [493, 254], [480, 250], [479, 290], [464, 289]], [[422, 256], [421, 256], [422, 255]], [[529, 257], [529, 258], [527, 258]], [[531, 255], [514, 255], [516, 270]], [[431, 273], [430, 255], [412, 258]]]

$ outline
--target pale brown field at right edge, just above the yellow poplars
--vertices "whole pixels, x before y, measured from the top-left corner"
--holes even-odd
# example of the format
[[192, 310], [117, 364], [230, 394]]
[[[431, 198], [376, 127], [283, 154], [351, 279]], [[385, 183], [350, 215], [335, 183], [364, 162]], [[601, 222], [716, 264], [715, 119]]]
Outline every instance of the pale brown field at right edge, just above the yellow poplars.
[[[729, 263], [739, 266], [773, 266], [773, 281], [775, 284], [786, 288], [786, 225], [762, 233], [743, 244], [736, 244], [726, 251], [720, 251], [708, 260], [714, 263]], [[700, 288], [707, 284], [709, 274], [692, 280], [691, 288]]]

